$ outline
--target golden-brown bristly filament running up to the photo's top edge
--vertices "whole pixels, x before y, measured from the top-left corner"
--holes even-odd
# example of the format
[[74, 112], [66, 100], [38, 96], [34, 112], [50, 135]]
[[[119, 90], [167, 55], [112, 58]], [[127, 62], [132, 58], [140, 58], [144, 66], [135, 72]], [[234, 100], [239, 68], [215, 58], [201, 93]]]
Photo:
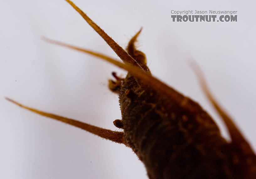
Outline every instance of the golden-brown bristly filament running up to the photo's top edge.
[[130, 63], [134, 66], [142, 68], [139, 63], [136, 62], [122, 47], [120, 47], [111, 37], [108, 36], [95, 22], [93, 22], [79, 7], [77, 7], [72, 1], [66, 0], [83, 18], [88, 24], [107, 42], [107, 44], [115, 51], [118, 57], [123, 62]]

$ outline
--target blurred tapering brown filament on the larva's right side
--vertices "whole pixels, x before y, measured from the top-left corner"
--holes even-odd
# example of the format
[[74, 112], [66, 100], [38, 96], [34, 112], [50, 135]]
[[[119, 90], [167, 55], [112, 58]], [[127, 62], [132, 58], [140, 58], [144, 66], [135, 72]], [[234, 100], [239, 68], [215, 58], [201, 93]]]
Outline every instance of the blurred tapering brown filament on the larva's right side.
[[[235, 123], [229, 117], [229, 115], [222, 109], [222, 107], [217, 103], [215, 98], [212, 96], [204, 77], [203, 72], [201, 71], [199, 65], [193, 61], [191, 64], [192, 69], [194, 70], [196, 77], [199, 80], [200, 86], [203, 89], [205, 95], [207, 96], [208, 100], [211, 102], [211, 104], [214, 106], [218, 114], [221, 116], [222, 120], [225, 122], [228, 132], [230, 134], [230, 137], [232, 139], [232, 143], [243, 145], [243, 147], [247, 148], [249, 147], [248, 142], [245, 140], [239, 129], [236, 127]], [[247, 146], [247, 147], [246, 147]]]

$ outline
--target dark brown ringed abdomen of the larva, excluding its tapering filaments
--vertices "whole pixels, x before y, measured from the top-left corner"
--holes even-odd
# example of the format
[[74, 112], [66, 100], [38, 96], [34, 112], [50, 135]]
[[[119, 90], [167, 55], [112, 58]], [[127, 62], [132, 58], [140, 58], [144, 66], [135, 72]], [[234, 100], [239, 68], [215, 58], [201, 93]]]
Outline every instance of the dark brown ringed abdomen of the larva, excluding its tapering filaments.
[[150, 178], [231, 178], [229, 144], [205, 112], [191, 114], [130, 75], [120, 90], [128, 144]]

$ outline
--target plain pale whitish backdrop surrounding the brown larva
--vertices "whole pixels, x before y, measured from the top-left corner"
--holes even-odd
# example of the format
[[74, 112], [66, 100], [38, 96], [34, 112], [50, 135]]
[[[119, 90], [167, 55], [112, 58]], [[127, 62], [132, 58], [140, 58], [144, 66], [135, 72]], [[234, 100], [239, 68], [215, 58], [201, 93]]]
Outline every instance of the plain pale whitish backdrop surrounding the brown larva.
[[[143, 27], [139, 49], [152, 73], [199, 102], [227, 132], [187, 60], [256, 149], [255, 1], [74, 1], [122, 47]], [[0, 178], [147, 178], [131, 149], [6, 101], [117, 130], [117, 95], [107, 62], [41, 36], [117, 57], [64, 0], [1, 0]], [[171, 22], [171, 10], [237, 10], [238, 22]]]

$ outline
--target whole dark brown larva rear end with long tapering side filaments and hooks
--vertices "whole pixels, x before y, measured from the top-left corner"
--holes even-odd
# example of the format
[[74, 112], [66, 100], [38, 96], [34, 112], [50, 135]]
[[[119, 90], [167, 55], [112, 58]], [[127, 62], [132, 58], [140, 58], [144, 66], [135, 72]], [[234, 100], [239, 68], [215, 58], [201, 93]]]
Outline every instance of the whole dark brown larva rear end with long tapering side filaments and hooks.
[[207, 98], [228, 128], [227, 142], [213, 119], [198, 103], [168, 87], [151, 75], [145, 54], [134, 43], [126, 51], [96, 25], [73, 2], [66, 0], [107, 42], [124, 63], [103, 54], [44, 38], [47, 42], [86, 52], [128, 71], [125, 78], [109, 80], [109, 89], [119, 94], [121, 120], [113, 123], [123, 132], [26, 107], [40, 115], [82, 128], [95, 135], [130, 147], [144, 163], [150, 179], [169, 178], [256, 178], [256, 156], [232, 119], [212, 97], [199, 67], [193, 69]]

